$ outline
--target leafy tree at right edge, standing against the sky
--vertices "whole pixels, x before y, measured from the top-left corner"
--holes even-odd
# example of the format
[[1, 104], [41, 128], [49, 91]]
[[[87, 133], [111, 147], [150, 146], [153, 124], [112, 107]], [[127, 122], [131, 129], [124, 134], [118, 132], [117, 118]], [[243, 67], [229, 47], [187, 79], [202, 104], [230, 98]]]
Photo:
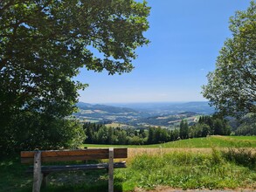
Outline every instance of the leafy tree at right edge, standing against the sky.
[[256, 113], [256, 3], [230, 19], [232, 38], [219, 52], [203, 93], [211, 105], [228, 115]]

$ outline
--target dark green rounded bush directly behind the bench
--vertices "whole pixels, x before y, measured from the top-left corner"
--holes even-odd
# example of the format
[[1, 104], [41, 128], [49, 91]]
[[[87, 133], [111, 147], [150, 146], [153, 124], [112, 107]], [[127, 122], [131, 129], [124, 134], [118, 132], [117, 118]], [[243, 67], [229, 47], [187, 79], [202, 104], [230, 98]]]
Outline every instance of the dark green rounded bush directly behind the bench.
[[2, 128], [1, 153], [20, 150], [79, 147], [85, 134], [76, 120], [59, 119], [41, 113], [22, 113], [10, 127]]

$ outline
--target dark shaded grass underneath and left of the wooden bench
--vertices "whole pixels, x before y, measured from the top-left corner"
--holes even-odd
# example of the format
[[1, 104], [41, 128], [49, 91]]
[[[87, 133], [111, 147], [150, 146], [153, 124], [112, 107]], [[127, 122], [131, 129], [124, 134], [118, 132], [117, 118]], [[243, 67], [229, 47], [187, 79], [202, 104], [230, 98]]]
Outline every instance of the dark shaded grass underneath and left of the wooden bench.
[[[18, 155], [2, 158], [0, 160], [0, 191], [31, 192], [33, 176], [25, 173], [29, 166], [21, 164]], [[41, 188], [41, 191], [107, 191], [107, 176], [106, 170], [54, 173], [49, 175], [49, 185]], [[114, 191], [122, 191], [122, 181], [119, 178], [114, 178]]]

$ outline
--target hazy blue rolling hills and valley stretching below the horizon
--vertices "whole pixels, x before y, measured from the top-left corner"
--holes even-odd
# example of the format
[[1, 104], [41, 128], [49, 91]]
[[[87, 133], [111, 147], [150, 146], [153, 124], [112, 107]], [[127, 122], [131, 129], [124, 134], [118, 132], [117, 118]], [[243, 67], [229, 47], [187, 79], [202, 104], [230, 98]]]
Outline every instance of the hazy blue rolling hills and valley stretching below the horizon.
[[193, 123], [199, 115], [212, 112], [207, 102], [114, 104], [114, 106], [79, 102], [77, 106], [79, 112], [73, 115], [82, 122], [117, 123], [121, 127], [176, 127], [183, 119]]

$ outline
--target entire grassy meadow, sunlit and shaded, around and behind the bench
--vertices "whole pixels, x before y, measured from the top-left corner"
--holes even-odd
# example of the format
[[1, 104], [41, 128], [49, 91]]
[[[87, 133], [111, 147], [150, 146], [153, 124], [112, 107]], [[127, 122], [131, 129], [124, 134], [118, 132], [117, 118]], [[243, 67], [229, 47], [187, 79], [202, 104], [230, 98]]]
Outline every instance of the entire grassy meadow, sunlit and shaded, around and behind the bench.
[[[150, 146], [128, 146], [128, 168], [114, 170], [114, 191], [167, 186], [178, 189], [256, 189], [256, 137], [211, 136]], [[110, 147], [86, 145], [86, 147]], [[121, 146], [114, 146], [121, 147]], [[127, 147], [127, 146], [122, 146]], [[122, 161], [122, 160], [121, 160]], [[31, 191], [27, 165], [0, 161], [0, 191]], [[49, 175], [42, 191], [107, 191], [107, 172]]]

